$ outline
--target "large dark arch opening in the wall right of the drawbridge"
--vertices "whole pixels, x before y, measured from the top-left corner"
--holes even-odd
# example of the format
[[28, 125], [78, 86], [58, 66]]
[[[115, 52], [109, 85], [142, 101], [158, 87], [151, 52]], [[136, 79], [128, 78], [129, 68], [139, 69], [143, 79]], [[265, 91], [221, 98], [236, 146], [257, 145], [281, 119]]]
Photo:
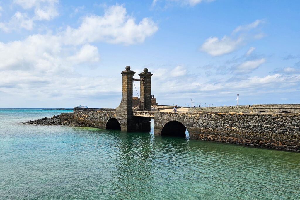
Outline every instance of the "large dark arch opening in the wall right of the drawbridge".
[[187, 128], [179, 121], [169, 121], [161, 130], [161, 136], [189, 137]]

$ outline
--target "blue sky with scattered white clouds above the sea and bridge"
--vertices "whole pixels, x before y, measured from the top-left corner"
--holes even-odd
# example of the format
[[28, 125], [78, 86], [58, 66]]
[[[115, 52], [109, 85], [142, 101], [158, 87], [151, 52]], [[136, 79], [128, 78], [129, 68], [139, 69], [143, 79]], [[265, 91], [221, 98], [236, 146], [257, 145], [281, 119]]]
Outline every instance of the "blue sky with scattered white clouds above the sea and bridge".
[[[300, 103], [300, 1], [0, 0], [0, 107]], [[139, 95], [135, 82], [134, 96]]]

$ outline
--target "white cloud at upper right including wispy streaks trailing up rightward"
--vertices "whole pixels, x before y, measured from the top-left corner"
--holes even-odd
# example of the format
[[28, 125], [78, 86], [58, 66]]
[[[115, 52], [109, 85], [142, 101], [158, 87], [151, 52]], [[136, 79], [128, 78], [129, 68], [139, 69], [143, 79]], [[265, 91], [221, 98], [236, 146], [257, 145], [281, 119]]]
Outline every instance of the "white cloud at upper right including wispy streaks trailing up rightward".
[[[233, 33], [249, 31], [250, 29], [256, 28], [260, 23], [262, 23], [262, 20], [258, 19], [248, 25], [238, 26], [237, 28], [235, 28]], [[250, 38], [259, 39], [262, 35], [264, 34], [256, 34]], [[222, 39], [219, 39], [218, 37], [210, 37], [204, 41], [204, 43], [200, 47], [200, 50], [212, 56], [219, 56], [235, 51], [246, 42], [247, 37], [245, 37], [245, 34], [240, 34], [238, 37], [234, 37], [233, 35], [231, 37], [228, 37], [225, 35]]]

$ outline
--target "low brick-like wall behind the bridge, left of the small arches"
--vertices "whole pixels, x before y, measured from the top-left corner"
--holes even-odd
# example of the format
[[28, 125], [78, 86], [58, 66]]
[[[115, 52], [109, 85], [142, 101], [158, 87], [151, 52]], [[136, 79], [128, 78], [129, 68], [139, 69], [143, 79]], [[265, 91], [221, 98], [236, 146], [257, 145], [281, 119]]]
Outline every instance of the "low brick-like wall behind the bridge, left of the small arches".
[[253, 112], [250, 105], [246, 106], [215, 106], [215, 107], [196, 107], [188, 108], [189, 112]]

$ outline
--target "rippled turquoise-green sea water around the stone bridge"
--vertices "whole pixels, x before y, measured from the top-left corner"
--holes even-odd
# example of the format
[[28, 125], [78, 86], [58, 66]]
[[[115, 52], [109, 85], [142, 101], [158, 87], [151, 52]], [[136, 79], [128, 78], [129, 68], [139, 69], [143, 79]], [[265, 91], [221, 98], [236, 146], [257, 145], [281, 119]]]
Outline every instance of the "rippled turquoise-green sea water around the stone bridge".
[[300, 199], [300, 153], [19, 124], [61, 112], [0, 109], [0, 199]]

